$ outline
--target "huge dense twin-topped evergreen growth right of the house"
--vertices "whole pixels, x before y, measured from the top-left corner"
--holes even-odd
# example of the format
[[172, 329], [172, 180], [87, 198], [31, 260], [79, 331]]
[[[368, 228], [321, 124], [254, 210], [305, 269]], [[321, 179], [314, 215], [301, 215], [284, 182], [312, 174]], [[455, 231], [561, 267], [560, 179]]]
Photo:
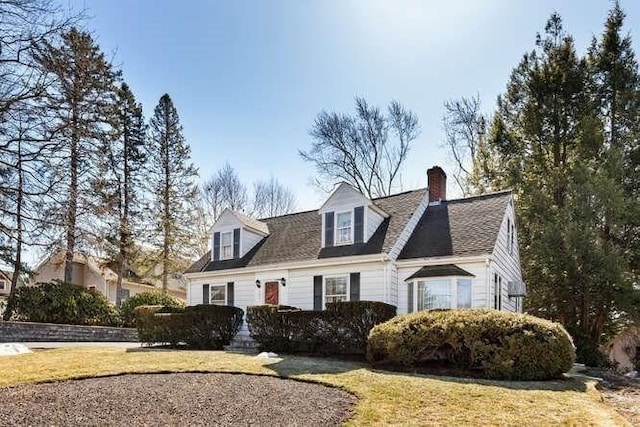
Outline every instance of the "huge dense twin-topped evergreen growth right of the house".
[[563, 323], [591, 363], [637, 297], [622, 242], [637, 204], [625, 199], [623, 168], [638, 91], [621, 17], [616, 5], [602, 41], [580, 58], [551, 16], [498, 99], [472, 178], [516, 192], [527, 310]]

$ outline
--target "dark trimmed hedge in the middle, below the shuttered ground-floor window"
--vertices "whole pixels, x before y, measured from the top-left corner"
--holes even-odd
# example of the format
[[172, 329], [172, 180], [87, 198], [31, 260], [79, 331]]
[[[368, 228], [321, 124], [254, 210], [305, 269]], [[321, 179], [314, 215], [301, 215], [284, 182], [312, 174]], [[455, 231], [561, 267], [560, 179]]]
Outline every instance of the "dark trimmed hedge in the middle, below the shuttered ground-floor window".
[[249, 332], [260, 347], [290, 353], [364, 355], [369, 331], [395, 315], [395, 306], [378, 301], [329, 303], [324, 311], [247, 307]]

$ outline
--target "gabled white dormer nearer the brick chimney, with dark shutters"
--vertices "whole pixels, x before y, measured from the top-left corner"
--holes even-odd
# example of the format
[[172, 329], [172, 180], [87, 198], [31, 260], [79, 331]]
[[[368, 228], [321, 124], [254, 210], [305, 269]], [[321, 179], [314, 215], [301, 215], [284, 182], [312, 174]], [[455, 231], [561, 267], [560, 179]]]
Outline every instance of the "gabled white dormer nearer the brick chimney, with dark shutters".
[[347, 183], [341, 183], [320, 207], [322, 247], [366, 243], [388, 215]]

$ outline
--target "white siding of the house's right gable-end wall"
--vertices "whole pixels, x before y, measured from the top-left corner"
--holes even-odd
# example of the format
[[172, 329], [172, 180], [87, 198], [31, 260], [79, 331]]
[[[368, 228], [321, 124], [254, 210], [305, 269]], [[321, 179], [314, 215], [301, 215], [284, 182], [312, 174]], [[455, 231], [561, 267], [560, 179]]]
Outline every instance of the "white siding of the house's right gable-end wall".
[[[512, 199], [513, 200], [513, 199]], [[507, 221], [509, 220], [509, 221]], [[522, 270], [520, 267], [520, 252], [518, 250], [518, 227], [514, 227], [515, 229], [515, 237], [514, 237], [514, 247], [513, 251], [509, 251], [509, 233], [507, 231], [507, 222], [511, 222], [515, 224], [515, 212], [513, 208], [513, 203], [510, 202], [507, 206], [507, 211], [505, 213], [504, 218], [502, 219], [502, 224], [500, 226], [500, 231], [498, 233], [498, 238], [496, 240], [496, 245], [493, 248], [493, 260], [491, 262], [491, 286], [490, 286], [490, 306], [494, 306], [494, 291], [493, 291], [493, 273], [498, 273], [500, 277], [502, 277], [502, 309], [507, 311], [515, 311], [516, 309], [516, 298], [509, 298], [507, 294], [507, 286], [509, 282], [522, 282]], [[520, 298], [520, 310], [522, 311], [522, 300]]]

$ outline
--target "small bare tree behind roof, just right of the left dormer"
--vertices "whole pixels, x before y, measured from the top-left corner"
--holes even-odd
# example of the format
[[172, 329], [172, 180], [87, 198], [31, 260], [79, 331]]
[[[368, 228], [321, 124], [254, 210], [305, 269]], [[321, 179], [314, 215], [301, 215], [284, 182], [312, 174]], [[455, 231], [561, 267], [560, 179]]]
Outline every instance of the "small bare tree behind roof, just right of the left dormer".
[[295, 196], [276, 178], [271, 177], [268, 181], [253, 184], [253, 216], [274, 217], [293, 212], [295, 208]]

